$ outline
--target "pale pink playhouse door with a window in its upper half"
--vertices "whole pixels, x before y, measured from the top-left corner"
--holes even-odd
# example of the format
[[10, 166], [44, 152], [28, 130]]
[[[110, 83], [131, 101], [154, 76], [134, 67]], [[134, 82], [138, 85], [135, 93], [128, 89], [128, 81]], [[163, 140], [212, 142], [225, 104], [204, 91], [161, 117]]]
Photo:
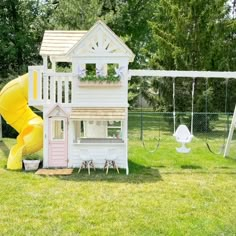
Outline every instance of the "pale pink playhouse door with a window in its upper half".
[[49, 167], [67, 167], [67, 118], [49, 118]]

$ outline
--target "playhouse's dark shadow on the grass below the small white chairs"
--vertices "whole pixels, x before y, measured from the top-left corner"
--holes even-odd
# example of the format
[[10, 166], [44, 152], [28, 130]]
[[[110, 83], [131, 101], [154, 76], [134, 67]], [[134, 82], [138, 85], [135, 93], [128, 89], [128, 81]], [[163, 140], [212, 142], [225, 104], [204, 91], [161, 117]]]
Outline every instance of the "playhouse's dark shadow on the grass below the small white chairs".
[[91, 170], [91, 174], [88, 175], [86, 169], [81, 170], [78, 173], [78, 169], [74, 169], [72, 175], [70, 176], [54, 176], [61, 180], [66, 181], [76, 181], [76, 182], [112, 182], [112, 183], [129, 183], [129, 184], [141, 184], [147, 182], [157, 182], [162, 181], [162, 177], [158, 169], [153, 169], [151, 167], [146, 167], [129, 161], [129, 175], [126, 175], [124, 169], [120, 169], [120, 174], [114, 169], [109, 169], [106, 175], [105, 171], [102, 169], [97, 169], [96, 171]]

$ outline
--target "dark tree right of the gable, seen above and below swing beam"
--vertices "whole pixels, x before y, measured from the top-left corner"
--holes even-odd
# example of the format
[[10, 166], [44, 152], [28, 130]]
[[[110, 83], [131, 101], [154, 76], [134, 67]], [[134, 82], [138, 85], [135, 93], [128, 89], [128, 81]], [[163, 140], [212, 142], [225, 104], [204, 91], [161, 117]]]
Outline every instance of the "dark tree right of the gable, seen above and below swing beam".
[[[157, 4], [158, 1], [156, 0], [113, 0], [111, 11], [107, 11], [103, 16], [112, 30], [134, 52], [135, 59], [130, 64], [130, 68], [138, 69], [147, 68], [148, 66], [146, 50], [151, 40], [151, 30], [148, 21], [153, 18]], [[130, 82], [130, 108], [135, 107], [135, 103], [141, 93], [150, 106], [154, 107], [154, 109], [163, 110], [162, 101], [155, 95], [155, 88], [151, 88], [152, 82], [141, 82], [142, 80], [143, 78], [132, 78]]]

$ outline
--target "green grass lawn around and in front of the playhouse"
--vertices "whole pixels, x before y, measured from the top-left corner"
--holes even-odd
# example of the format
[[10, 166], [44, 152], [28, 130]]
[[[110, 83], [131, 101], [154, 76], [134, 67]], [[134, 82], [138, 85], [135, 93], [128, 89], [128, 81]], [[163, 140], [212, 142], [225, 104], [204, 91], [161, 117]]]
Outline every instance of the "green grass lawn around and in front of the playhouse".
[[236, 158], [200, 139], [189, 154], [172, 137], [155, 153], [130, 139], [128, 176], [68, 177], [6, 170], [14, 142], [0, 142], [0, 235], [236, 235]]

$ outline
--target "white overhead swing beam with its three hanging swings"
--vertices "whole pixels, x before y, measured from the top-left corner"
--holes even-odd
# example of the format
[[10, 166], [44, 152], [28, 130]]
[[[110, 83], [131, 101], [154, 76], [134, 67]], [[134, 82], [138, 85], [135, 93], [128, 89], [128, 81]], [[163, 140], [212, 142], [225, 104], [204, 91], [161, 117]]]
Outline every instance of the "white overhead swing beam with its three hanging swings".
[[[228, 82], [230, 78], [236, 79], [236, 72], [210, 72], [210, 71], [160, 71], [160, 70], [129, 70], [129, 76], [130, 78], [132, 76], [141, 76], [141, 77], [171, 77], [172, 78], [172, 84], [173, 84], [173, 127], [174, 127], [174, 134], [176, 141], [181, 144], [181, 147], [176, 148], [176, 151], [179, 153], [189, 153], [191, 151], [190, 148], [186, 147], [187, 143], [190, 143], [192, 139], [194, 138], [193, 135], [193, 120], [194, 120], [194, 95], [195, 95], [195, 82], [196, 78], [205, 78], [205, 89], [206, 89], [206, 95], [205, 95], [205, 143], [207, 146], [207, 149], [213, 153], [213, 154], [222, 154], [222, 150], [225, 145], [226, 136], [224, 135], [223, 140], [223, 146], [220, 152], [214, 152], [212, 148], [210, 147], [210, 144], [208, 142], [208, 95], [207, 90], [209, 87], [208, 79], [209, 78], [223, 78], [225, 79], [225, 111], [224, 113], [227, 114], [227, 103], [228, 103]], [[185, 124], [180, 124], [176, 129], [176, 78], [192, 78], [192, 92], [191, 92], [191, 124], [190, 124], [190, 130]], [[140, 92], [141, 94], [141, 92]], [[143, 107], [141, 102], [141, 126], [143, 127]], [[224, 130], [224, 134], [226, 130]], [[147, 146], [145, 145], [143, 133], [141, 135], [141, 141], [143, 144], [143, 147], [145, 150], [147, 150], [150, 153], [154, 153], [158, 150], [161, 143], [161, 132], [160, 132], [160, 125], [159, 125], [159, 131], [158, 131], [158, 138], [156, 138], [156, 145], [155, 148], [152, 150], [148, 150]]]

